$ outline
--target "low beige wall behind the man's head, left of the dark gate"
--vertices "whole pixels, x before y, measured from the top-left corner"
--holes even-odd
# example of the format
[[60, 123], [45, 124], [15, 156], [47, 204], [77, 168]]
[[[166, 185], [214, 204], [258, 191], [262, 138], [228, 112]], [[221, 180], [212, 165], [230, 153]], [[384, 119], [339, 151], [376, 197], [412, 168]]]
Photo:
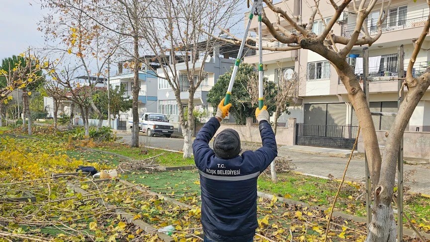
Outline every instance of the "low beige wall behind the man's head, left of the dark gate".
[[[252, 122], [252, 118], [247, 119], [246, 125], [237, 125], [230, 123], [222, 123], [215, 136], [225, 129], [234, 129], [239, 133], [241, 141], [261, 143], [260, 131], [258, 124]], [[277, 127], [276, 129], [276, 144], [277, 145], [295, 145], [295, 126], [296, 119], [289, 118], [286, 127]]]

